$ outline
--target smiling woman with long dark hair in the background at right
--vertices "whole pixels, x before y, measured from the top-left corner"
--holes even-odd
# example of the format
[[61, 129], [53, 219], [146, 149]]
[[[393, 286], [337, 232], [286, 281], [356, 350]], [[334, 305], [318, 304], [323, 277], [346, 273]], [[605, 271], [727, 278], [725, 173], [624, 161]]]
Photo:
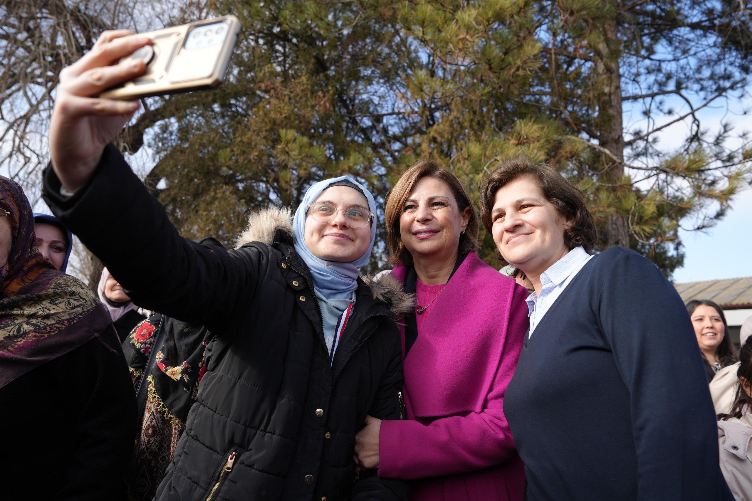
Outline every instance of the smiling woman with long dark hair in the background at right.
[[716, 372], [738, 361], [729, 337], [726, 315], [719, 305], [709, 299], [693, 299], [687, 302], [687, 311], [690, 312], [690, 320], [695, 328], [697, 345], [700, 347], [709, 383]]

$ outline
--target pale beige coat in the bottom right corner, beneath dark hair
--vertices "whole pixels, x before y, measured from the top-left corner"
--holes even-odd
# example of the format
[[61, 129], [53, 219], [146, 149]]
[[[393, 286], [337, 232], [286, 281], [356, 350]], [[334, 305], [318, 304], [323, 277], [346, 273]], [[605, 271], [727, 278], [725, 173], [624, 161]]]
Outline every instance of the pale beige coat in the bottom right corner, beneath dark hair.
[[741, 419], [718, 421], [720, 469], [736, 501], [752, 501], [752, 408]]

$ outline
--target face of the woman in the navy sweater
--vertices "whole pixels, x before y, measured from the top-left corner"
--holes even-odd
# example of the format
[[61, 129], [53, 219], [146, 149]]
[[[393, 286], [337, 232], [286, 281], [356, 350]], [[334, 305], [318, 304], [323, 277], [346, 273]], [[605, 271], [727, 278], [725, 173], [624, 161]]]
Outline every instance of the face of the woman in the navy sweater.
[[505, 260], [526, 275], [540, 275], [569, 250], [566, 219], [531, 176], [505, 184], [491, 211], [493, 241]]

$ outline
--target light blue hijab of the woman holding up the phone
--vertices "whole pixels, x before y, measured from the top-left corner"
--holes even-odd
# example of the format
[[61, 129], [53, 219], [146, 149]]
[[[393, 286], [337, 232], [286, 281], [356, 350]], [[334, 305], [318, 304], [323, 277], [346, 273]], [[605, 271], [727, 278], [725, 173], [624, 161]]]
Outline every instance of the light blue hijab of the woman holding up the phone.
[[[356, 282], [359, 269], [368, 263], [368, 259], [371, 257], [371, 250], [374, 247], [374, 241], [376, 240], [376, 221], [371, 223], [371, 244], [368, 245], [368, 250], [365, 251], [358, 259], [351, 263], [335, 263], [333, 261], [324, 261], [314, 256], [308, 246], [305, 244], [305, 212], [308, 204], [313, 202], [317, 197], [329, 187], [330, 184], [338, 181], [348, 181], [359, 187], [365, 198], [368, 199], [368, 210], [376, 214], [376, 202], [371, 192], [365, 189], [362, 184], [359, 184], [350, 176], [340, 176], [339, 178], [326, 179], [325, 181], [319, 181], [314, 184], [308, 191], [305, 192], [302, 202], [298, 206], [298, 210], [295, 211], [295, 218], [293, 219], [293, 234], [295, 235], [295, 250], [298, 255], [308, 265], [308, 269], [311, 270], [311, 275], [314, 278], [314, 289], [317, 296], [323, 296], [324, 299], [350, 299], [353, 297], [353, 290], [356, 290], [358, 284]], [[375, 219], [375, 216], [374, 216]]]

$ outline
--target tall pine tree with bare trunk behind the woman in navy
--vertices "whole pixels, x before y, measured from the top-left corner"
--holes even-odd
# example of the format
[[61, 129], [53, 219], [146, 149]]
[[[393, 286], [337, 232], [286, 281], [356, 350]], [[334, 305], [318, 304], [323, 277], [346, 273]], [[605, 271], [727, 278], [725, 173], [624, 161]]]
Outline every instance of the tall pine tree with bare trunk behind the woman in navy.
[[[729, 142], [728, 123], [711, 136], [697, 115], [744, 90], [744, 2], [426, 0], [403, 4], [400, 21], [426, 54], [406, 98], [423, 110], [420, 155], [471, 186], [517, 153], [550, 162], [585, 193], [600, 250], [635, 248], [670, 276], [680, 222], [708, 228], [750, 179], [746, 141]], [[666, 96], [690, 112], [673, 117]], [[623, 102], [648, 129], [623, 129]], [[684, 146], [662, 150], [656, 120], [687, 117]]]

